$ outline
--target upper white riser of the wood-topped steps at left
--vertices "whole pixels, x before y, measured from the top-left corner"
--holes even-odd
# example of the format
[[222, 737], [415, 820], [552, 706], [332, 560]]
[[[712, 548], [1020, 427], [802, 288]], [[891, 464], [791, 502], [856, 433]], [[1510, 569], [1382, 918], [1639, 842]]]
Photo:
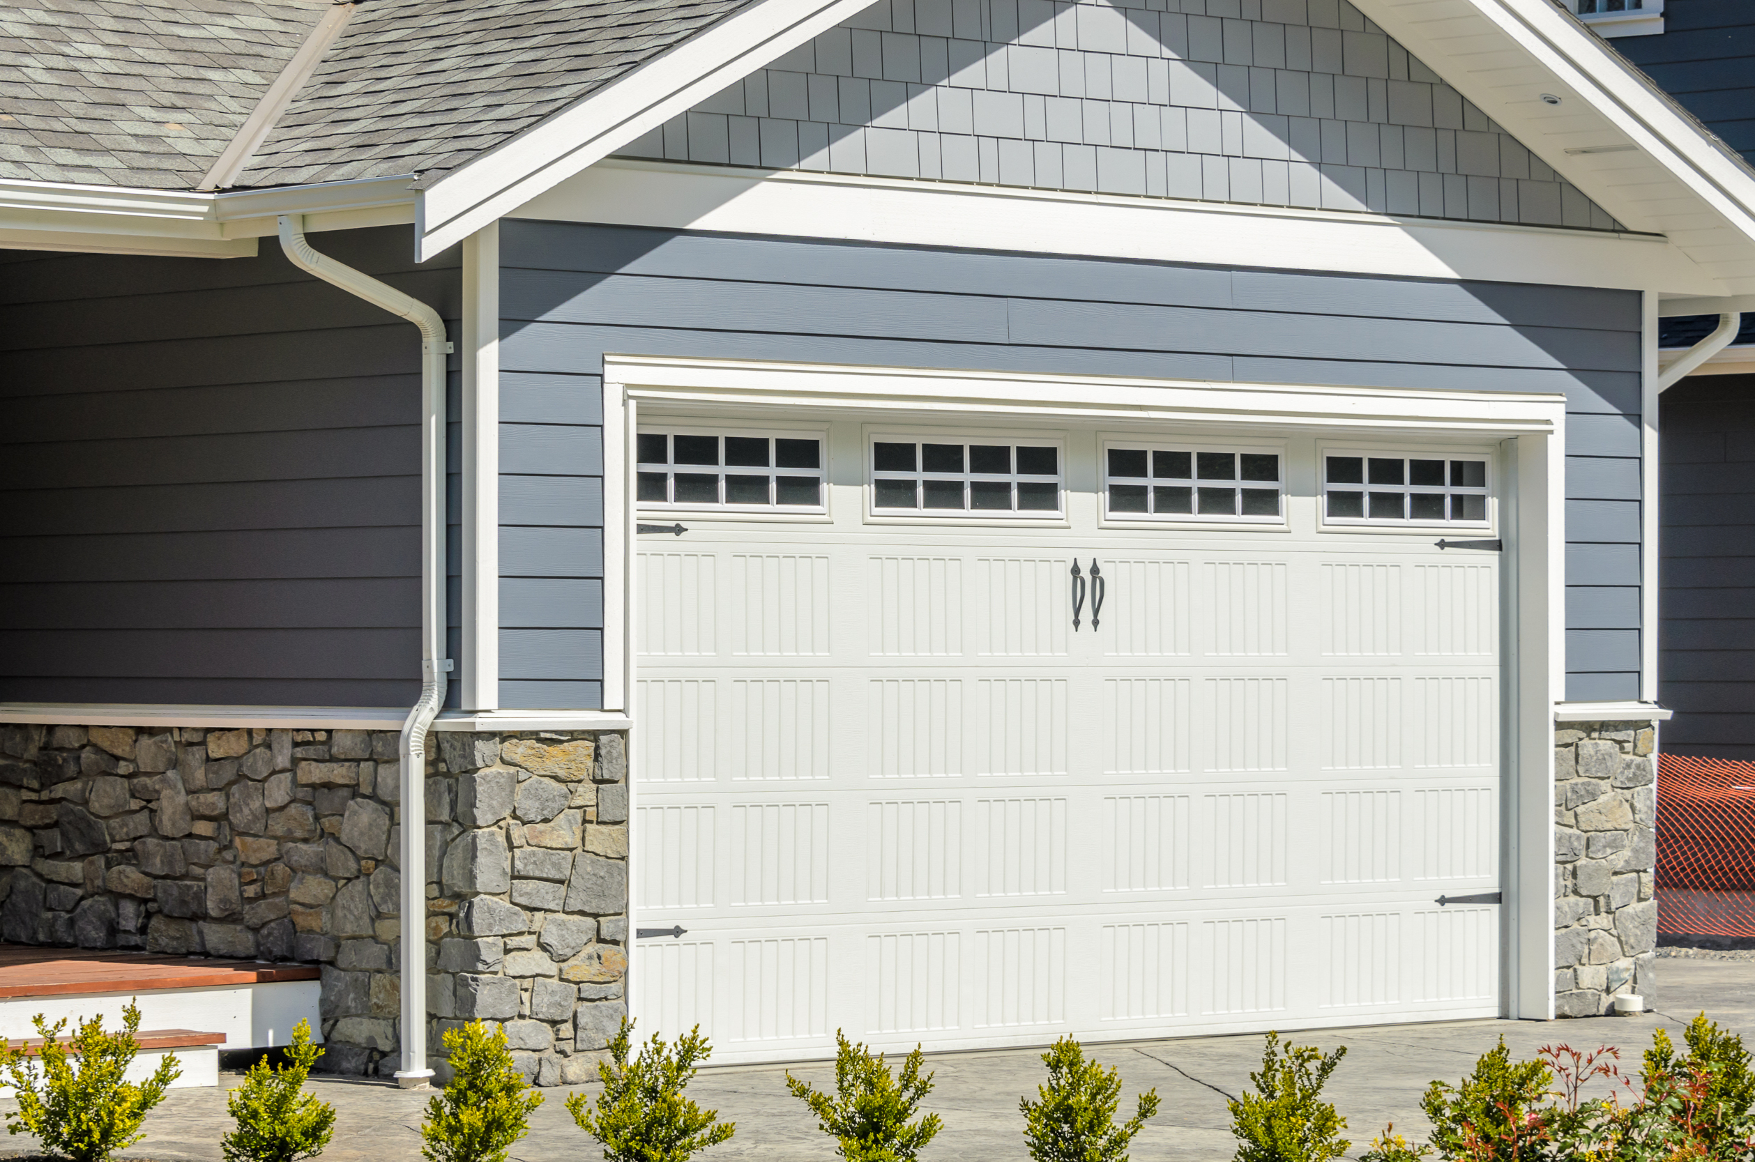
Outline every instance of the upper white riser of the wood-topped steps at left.
[[[121, 1025], [130, 1001], [140, 1006], [140, 1029], [193, 1029], [223, 1032], [225, 1050], [291, 1044], [293, 1025], [311, 1022], [311, 1039], [323, 1039], [318, 1015], [319, 981], [272, 981], [230, 988], [163, 988], [144, 992], [61, 993], [49, 997], [0, 999], [0, 1036], [9, 1041], [35, 1037], [32, 1018], [42, 1013], [51, 1023], [67, 1018], [68, 1036], [81, 1018], [104, 1016], [105, 1029]], [[146, 1053], [140, 1055], [144, 1060]], [[179, 1055], [181, 1057], [181, 1055]], [[216, 1065], [218, 1067], [218, 1065]], [[214, 1085], [212, 1081], [179, 1085]]]

